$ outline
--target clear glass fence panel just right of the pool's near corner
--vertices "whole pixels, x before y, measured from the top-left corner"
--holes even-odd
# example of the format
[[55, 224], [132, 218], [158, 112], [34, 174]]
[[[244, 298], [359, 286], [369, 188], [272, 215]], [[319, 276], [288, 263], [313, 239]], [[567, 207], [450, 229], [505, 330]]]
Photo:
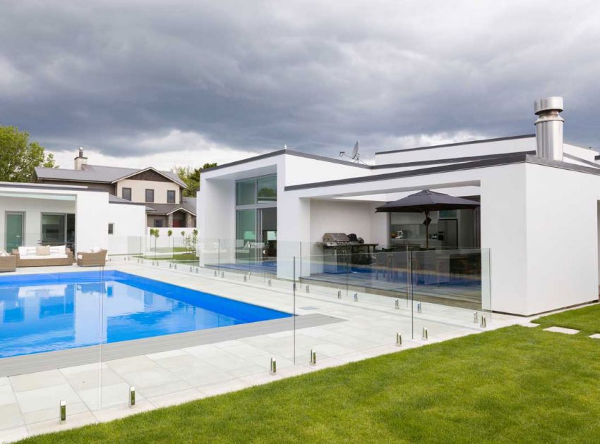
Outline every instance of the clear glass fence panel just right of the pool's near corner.
[[337, 248], [296, 259], [303, 265], [296, 291], [296, 362], [312, 367], [397, 350], [412, 338], [406, 303], [406, 253]]

